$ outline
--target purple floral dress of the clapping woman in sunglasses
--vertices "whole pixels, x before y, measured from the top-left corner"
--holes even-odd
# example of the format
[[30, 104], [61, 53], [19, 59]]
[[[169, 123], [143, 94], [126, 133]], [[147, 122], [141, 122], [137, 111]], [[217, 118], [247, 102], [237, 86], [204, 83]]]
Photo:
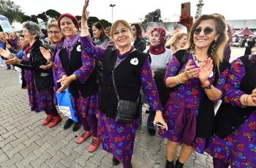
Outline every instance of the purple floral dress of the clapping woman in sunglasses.
[[[189, 61], [189, 59], [192, 60], [192, 65], [197, 66], [195, 64], [192, 54], [189, 54], [187, 61]], [[165, 80], [167, 77], [176, 76], [178, 75], [179, 72], [184, 71], [186, 64], [187, 62], [184, 65], [182, 65], [182, 67], [180, 67], [181, 65], [178, 62], [177, 58], [173, 56], [172, 60], [170, 61], [170, 64], [167, 66]], [[180, 69], [180, 71], [178, 71], [178, 69]], [[219, 80], [217, 80], [216, 85], [214, 85], [214, 87], [218, 88], [220, 91], [222, 91], [222, 88], [224, 87], [227, 72], [228, 69], [225, 69], [225, 71], [223, 71], [219, 75]], [[215, 72], [213, 71], [212, 76], [210, 75], [210, 77], [208, 78], [208, 80], [210, 80], [211, 83], [214, 82], [214, 73]], [[188, 80], [184, 84], [177, 85], [174, 88], [174, 90], [170, 93], [170, 96], [175, 98], [176, 102], [184, 102], [184, 104], [187, 104], [187, 106], [185, 107], [185, 123], [191, 121], [192, 117], [198, 114], [199, 102], [202, 95], [202, 90], [200, 89], [200, 87], [200, 80], [198, 78], [193, 78], [192, 80]], [[165, 118], [165, 122], [167, 122], [168, 131], [166, 131], [165, 129], [159, 129], [159, 135], [173, 142], [186, 143], [186, 141], [184, 140], [191, 138], [189, 137], [190, 135], [184, 133], [184, 131], [181, 131], [179, 133], [176, 133], [176, 131], [174, 131], [174, 126], [176, 125], [176, 112], [178, 110], [178, 104], [173, 103], [173, 98], [170, 96], [163, 110], [163, 116]], [[189, 104], [194, 105], [192, 108], [190, 108]], [[193, 120], [196, 120], [196, 118], [193, 118]], [[195, 128], [189, 127], [187, 130], [195, 131], [195, 129], [196, 126]], [[192, 148], [194, 148], [198, 153], [203, 153], [206, 145], [206, 139], [200, 137], [192, 137], [192, 143], [187, 145], [191, 145]]]

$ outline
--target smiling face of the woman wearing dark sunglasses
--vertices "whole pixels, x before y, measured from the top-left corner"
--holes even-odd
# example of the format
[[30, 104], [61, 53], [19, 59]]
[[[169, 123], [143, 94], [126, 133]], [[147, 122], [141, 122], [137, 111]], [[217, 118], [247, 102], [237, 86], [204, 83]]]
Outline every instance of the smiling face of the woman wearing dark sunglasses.
[[[206, 31], [205, 28], [206, 30], [212, 29], [211, 33], [209, 33], [210, 31]], [[196, 32], [200, 29], [200, 33]], [[208, 49], [211, 43], [214, 42], [214, 40], [217, 40], [218, 37], [219, 35], [217, 34], [216, 23], [214, 20], [202, 20], [195, 30], [193, 39], [196, 48]]]

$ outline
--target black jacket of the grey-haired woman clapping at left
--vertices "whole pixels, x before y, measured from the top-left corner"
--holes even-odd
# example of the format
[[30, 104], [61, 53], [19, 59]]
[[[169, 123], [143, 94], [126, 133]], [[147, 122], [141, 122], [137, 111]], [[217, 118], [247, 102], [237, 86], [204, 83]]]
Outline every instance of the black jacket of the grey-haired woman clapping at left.
[[34, 82], [38, 92], [53, 88], [53, 70], [39, 68], [39, 66], [47, 63], [47, 60], [42, 56], [42, 53], [39, 50], [39, 47], [41, 46], [45, 47], [42, 45], [42, 42], [37, 39], [29, 50], [29, 61], [21, 60], [20, 65], [15, 65], [21, 69], [33, 70]]

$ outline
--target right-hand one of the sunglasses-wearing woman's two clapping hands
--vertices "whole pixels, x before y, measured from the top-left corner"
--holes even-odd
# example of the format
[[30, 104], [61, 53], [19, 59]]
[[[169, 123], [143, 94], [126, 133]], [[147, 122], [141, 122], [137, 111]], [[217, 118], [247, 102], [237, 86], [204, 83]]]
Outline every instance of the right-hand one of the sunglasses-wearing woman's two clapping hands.
[[203, 84], [207, 82], [212, 70], [214, 69], [213, 60], [211, 58], [208, 58], [203, 64], [200, 64], [200, 69], [201, 72], [199, 73], [198, 78]]

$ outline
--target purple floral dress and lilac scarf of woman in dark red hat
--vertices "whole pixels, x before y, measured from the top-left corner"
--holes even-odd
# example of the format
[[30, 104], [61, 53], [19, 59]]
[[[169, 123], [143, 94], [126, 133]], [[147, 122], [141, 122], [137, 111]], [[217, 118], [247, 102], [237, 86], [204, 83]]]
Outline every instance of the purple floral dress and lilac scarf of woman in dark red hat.
[[[80, 35], [77, 34], [75, 37], [73, 37], [70, 42], [66, 42], [64, 39], [64, 47], [65, 45], [72, 45], [75, 46], [78, 42], [80, 42]], [[73, 50], [73, 47], [69, 50], [67, 48], [67, 51], [69, 53], [69, 58], [71, 56], [71, 51]], [[74, 48], [74, 50], [77, 50], [77, 48]], [[84, 51], [82, 51], [82, 64], [83, 66], [80, 67], [77, 71], [74, 72], [74, 75], [77, 77], [77, 80], [80, 83], [86, 83], [86, 80], [89, 79], [91, 73], [94, 71], [95, 67], [95, 61], [94, 58], [89, 58], [88, 55]], [[61, 61], [58, 61], [58, 73], [59, 78], [61, 78], [63, 75], [67, 75], [65, 72]], [[86, 115], [96, 115], [98, 112], [98, 94], [83, 97], [82, 94], [79, 92], [79, 97], [74, 98], [72, 97], [72, 102], [75, 107], [75, 116], [82, 116], [83, 118], [86, 118]]]

